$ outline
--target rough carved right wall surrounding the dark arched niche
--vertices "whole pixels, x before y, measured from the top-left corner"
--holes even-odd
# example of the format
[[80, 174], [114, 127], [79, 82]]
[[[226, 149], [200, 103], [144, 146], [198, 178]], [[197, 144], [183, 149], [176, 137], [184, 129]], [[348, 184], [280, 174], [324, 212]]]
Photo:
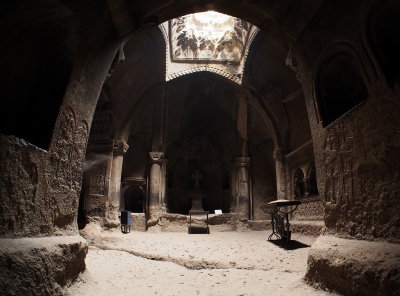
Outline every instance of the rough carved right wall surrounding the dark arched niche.
[[[357, 238], [398, 240], [400, 102], [385, 82], [365, 37], [365, 5], [366, 1], [325, 1], [294, 49], [306, 95], [326, 226]], [[355, 56], [369, 97], [323, 128], [314, 77], [324, 54], [334, 46]]]

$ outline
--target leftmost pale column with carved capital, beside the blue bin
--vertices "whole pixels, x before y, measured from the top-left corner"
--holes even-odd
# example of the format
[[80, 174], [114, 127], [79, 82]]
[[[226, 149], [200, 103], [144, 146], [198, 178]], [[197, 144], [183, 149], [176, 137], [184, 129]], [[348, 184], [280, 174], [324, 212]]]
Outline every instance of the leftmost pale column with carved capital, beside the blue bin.
[[124, 141], [115, 141], [113, 147], [113, 158], [111, 166], [111, 180], [109, 197], [107, 203], [107, 211], [105, 217], [105, 226], [107, 227], [118, 227], [119, 219], [118, 215], [121, 210], [121, 174], [122, 174], [122, 163], [124, 155], [128, 150], [129, 146]]

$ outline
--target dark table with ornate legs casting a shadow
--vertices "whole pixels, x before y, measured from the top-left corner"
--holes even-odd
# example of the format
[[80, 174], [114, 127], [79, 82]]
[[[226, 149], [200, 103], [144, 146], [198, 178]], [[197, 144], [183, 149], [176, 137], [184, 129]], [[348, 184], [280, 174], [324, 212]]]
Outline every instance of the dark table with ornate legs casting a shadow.
[[261, 206], [265, 213], [271, 215], [272, 233], [268, 236], [268, 240], [271, 240], [274, 235], [277, 239], [290, 240], [292, 232], [289, 214], [293, 213], [299, 204], [301, 204], [300, 200], [278, 199]]

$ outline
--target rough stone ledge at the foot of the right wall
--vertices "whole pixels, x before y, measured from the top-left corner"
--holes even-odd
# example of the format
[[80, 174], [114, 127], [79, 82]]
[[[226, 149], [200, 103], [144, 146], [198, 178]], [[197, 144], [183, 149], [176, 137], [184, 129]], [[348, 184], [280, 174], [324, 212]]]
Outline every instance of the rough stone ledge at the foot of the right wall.
[[320, 236], [305, 280], [345, 295], [400, 295], [400, 245]]

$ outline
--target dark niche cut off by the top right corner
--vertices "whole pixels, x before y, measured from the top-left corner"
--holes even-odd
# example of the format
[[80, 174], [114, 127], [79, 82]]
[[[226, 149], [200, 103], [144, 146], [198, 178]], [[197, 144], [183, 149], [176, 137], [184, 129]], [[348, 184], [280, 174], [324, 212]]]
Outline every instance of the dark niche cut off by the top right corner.
[[378, 1], [369, 17], [371, 46], [391, 86], [400, 83], [400, 1]]

